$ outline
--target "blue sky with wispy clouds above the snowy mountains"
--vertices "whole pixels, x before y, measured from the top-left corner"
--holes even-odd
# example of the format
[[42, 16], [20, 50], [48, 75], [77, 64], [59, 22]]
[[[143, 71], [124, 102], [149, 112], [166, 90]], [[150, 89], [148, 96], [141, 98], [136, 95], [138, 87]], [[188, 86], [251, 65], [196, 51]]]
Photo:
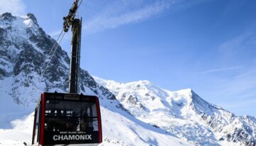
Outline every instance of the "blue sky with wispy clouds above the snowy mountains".
[[[73, 0], [4, 0], [57, 38]], [[81, 67], [103, 79], [191, 88], [237, 115], [256, 116], [256, 1], [83, 0]], [[60, 44], [70, 52], [70, 33]]]

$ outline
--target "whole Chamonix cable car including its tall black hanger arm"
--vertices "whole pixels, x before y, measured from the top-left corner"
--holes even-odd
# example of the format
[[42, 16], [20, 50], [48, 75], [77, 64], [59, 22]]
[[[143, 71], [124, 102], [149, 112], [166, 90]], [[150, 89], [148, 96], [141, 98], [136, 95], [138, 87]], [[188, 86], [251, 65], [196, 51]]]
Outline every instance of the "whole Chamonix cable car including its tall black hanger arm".
[[78, 1], [75, 0], [68, 16], [63, 18], [64, 32], [72, 26], [73, 35], [69, 94], [41, 94], [35, 109], [32, 145], [97, 145], [102, 142], [99, 99], [77, 94], [82, 30], [82, 18], [75, 18], [82, 2], [78, 5]]

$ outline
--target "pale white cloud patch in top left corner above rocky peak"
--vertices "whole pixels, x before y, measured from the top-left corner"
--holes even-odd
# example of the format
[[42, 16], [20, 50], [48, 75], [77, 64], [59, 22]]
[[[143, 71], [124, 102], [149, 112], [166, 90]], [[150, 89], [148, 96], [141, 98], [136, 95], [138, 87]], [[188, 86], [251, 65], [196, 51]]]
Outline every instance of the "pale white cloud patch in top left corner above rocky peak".
[[26, 14], [26, 6], [22, 0], [1, 0], [0, 13], [12, 13], [14, 16], [23, 16]]

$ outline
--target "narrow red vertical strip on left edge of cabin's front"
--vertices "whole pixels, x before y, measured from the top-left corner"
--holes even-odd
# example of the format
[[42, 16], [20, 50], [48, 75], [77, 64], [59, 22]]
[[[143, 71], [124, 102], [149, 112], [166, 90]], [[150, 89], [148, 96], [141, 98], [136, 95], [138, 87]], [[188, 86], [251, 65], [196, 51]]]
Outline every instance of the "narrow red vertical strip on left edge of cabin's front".
[[40, 130], [40, 140], [39, 144], [43, 145], [43, 137], [44, 137], [44, 123], [45, 123], [45, 113], [46, 113], [46, 94], [43, 93], [42, 100], [41, 100], [42, 112], [41, 112], [41, 130]]

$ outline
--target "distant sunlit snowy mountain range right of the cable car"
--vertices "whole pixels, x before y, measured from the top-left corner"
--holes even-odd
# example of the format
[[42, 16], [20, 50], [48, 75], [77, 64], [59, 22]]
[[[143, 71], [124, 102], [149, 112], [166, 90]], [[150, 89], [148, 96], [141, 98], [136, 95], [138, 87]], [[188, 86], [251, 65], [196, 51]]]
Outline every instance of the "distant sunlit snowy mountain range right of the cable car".
[[[132, 115], [196, 145], [256, 145], [256, 118], [238, 117], [191, 89], [168, 91], [149, 81], [122, 84], [94, 77]], [[233, 145], [230, 143], [230, 145]]]

